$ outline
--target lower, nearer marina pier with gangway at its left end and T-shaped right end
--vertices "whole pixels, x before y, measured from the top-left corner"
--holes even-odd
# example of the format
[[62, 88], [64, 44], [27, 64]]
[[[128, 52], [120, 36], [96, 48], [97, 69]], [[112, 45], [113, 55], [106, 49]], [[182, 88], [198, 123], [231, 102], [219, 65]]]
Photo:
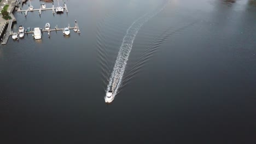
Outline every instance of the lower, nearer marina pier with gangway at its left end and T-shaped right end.
[[[13, 32], [11, 31], [11, 25], [12, 25], [12, 23], [13, 23], [12, 20], [9, 20], [9, 25], [8, 25], [7, 31], [6, 31], [6, 33], [5, 33], [6, 35], [4, 34], [4, 37], [3, 37], [3, 39], [2, 39], [2, 45], [7, 44], [7, 41], [8, 41], [8, 39], [9, 39], [9, 36], [10, 36], [10, 35], [13, 35]], [[74, 26], [74, 27], [68, 26], [68, 29], [77, 29], [77, 33], [80, 34], [80, 29], [79, 29], [77, 20], [75, 20], [75, 26]], [[41, 32], [42, 32], [42, 33], [43, 33], [43, 32], [47, 32], [47, 33], [48, 33], [48, 37], [50, 37], [50, 32], [52, 32], [52, 31], [56, 31], [56, 32], [57, 32], [57, 31], [62, 31], [62, 32], [63, 32], [63, 35], [64, 35], [64, 28], [58, 28], [57, 26], [56, 26], [54, 29], [48, 29], [48, 30], [41, 28]], [[25, 31], [24, 33], [25, 33], [25, 34], [34, 34], [34, 31], [30, 31], [30, 32]], [[19, 37], [18, 37], [18, 40], [19, 40]]]

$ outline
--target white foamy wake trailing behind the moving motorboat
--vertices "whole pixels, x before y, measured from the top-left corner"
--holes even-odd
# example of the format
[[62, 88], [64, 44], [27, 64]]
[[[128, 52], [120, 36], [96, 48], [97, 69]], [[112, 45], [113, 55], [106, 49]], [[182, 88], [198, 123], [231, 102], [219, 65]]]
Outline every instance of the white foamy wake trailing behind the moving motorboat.
[[[167, 4], [167, 3], [166, 3]], [[145, 14], [141, 17], [139, 17], [136, 21], [132, 23], [132, 25], [127, 29], [126, 35], [123, 38], [123, 42], [120, 46], [120, 50], [118, 52], [117, 60], [115, 61], [114, 69], [111, 73], [111, 76], [109, 78], [109, 83], [107, 86], [106, 93], [110, 90], [113, 91], [113, 97], [117, 95], [118, 89], [121, 86], [121, 82], [123, 80], [124, 71], [126, 68], [126, 64], [132, 49], [133, 41], [135, 40], [135, 37], [139, 31], [139, 29], [144, 25], [145, 22], [147, 22], [150, 18], [155, 16], [156, 14], [160, 13], [164, 7], [159, 9], [153, 14]]]

